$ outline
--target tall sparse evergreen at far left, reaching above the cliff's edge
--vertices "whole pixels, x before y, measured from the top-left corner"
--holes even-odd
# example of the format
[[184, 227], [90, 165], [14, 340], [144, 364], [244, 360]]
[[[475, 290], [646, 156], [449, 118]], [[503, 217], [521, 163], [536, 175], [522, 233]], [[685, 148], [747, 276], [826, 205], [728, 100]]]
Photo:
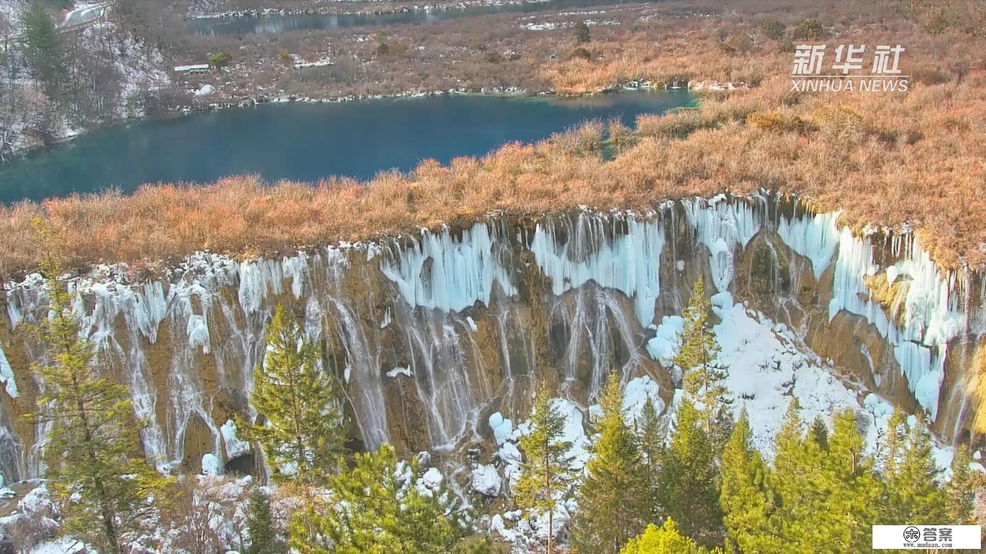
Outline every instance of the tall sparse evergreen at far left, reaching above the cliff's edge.
[[[45, 240], [42, 224], [35, 222]], [[49, 348], [49, 365], [32, 373], [44, 383], [34, 423], [51, 423], [44, 447], [48, 490], [60, 505], [62, 532], [101, 552], [125, 551], [125, 538], [153, 515], [152, 500], [171, 479], [139, 454], [141, 422], [125, 385], [102, 377], [91, 345], [72, 312], [72, 298], [58, 281], [59, 268], [46, 254], [40, 263], [50, 315], [31, 330]]]

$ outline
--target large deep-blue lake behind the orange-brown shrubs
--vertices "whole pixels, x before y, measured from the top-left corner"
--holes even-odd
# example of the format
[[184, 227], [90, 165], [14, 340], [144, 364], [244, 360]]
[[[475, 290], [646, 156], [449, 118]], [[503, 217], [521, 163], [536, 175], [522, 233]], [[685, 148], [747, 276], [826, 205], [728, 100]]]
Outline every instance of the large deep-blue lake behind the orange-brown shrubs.
[[210, 182], [257, 173], [267, 180], [361, 179], [448, 163], [511, 141], [546, 138], [586, 119], [662, 112], [685, 92], [633, 92], [576, 99], [479, 96], [343, 104], [261, 104], [111, 127], [0, 166], [0, 202], [145, 182]]

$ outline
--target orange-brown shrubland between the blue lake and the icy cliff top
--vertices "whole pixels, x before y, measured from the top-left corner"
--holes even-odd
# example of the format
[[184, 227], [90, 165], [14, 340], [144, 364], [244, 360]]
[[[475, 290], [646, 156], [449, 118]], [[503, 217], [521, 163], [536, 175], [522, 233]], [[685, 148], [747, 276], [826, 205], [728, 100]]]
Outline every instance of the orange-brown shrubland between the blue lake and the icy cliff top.
[[[885, 7], [867, 19], [858, 13], [865, 11], [860, 4], [812, 3], [820, 13], [808, 15], [824, 24], [829, 50], [842, 42], [905, 45], [901, 66], [912, 75], [911, 87], [904, 94], [795, 93], [787, 46], [758, 36], [764, 19], [774, 16], [743, 5], [747, 12], [730, 16], [669, 18], [656, 24], [668, 33], [660, 41], [635, 38], [653, 34], [650, 24], [646, 31], [628, 28], [589, 44], [597, 61], [575, 57], [544, 69], [557, 90], [571, 93], [641, 77], [756, 85], [708, 93], [698, 109], [641, 116], [633, 137], [617, 128], [619, 154], [610, 161], [600, 153], [603, 125], [594, 123], [535, 145], [509, 144], [482, 159], [449, 166], [426, 161], [411, 173], [381, 173], [368, 183], [332, 178], [264, 185], [240, 176], [209, 186], [145, 186], [129, 196], [24, 203], [0, 210], [0, 270], [10, 274], [35, 259], [35, 217], [66, 231], [62, 261], [80, 265], [158, 260], [202, 248], [280, 251], [372, 239], [493, 210], [644, 208], [669, 198], [761, 188], [810, 198], [819, 209], [841, 208], [844, 221], [856, 226], [915, 224], [945, 265], [986, 261], [983, 38], [953, 29], [932, 34], [920, 20]], [[805, 17], [795, 10], [782, 21], [790, 33]], [[755, 36], [745, 51], [716, 47], [737, 34]]]

